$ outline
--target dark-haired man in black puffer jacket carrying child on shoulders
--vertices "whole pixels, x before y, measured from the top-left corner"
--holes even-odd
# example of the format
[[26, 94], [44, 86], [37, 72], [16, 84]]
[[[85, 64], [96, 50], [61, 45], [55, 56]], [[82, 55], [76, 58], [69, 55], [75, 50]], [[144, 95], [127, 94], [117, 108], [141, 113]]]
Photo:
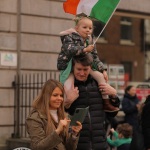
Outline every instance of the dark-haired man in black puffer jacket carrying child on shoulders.
[[[79, 97], [68, 104], [66, 111], [73, 115], [76, 108], [89, 106], [89, 112], [83, 122], [77, 150], [106, 150], [105, 112], [101, 92], [110, 95], [113, 106], [118, 107], [119, 99], [116, 97], [116, 90], [110, 85], [100, 85], [89, 75], [92, 65], [92, 57], [89, 54], [75, 56], [73, 58], [73, 74], [75, 87], [78, 88]], [[68, 107], [70, 106], [70, 107]], [[108, 113], [108, 116], [115, 116], [115, 113]]]

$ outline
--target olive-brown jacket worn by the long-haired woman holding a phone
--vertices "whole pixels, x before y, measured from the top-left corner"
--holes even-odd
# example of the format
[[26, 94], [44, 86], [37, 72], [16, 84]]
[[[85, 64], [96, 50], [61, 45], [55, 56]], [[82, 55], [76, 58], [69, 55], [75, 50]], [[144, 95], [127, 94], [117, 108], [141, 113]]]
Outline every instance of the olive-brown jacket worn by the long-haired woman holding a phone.
[[61, 137], [52, 125], [50, 134], [46, 135], [47, 118], [40, 112], [33, 110], [26, 119], [26, 129], [31, 138], [32, 150], [76, 150], [78, 137]]

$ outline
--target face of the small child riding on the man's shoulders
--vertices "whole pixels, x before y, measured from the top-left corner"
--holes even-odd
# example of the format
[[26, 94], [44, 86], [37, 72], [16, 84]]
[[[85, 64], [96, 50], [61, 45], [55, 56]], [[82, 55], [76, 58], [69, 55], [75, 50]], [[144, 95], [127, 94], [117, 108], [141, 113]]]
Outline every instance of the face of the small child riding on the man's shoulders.
[[85, 17], [78, 22], [75, 29], [83, 39], [86, 39], [92, 34], [93, 23], [90, 19]]

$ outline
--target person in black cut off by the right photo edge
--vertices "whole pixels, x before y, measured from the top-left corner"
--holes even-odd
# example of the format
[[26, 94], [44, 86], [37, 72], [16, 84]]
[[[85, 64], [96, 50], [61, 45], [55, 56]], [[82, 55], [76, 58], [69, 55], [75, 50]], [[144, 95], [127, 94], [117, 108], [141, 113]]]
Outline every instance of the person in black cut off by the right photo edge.
[[141, 114], [145, 150], [150, 150], [150, 95], [147, 96]]

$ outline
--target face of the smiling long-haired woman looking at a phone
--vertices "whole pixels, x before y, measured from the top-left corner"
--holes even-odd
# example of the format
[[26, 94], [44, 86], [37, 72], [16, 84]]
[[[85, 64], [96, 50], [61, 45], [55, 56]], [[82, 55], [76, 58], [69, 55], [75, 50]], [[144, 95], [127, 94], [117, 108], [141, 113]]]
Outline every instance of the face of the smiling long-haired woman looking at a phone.
[[50, 109], [56, 110], [61, 106], [61, 103], [63, 102], [63, 93], [59, 87], [56, 87], [52, 95], [50, 97]]

